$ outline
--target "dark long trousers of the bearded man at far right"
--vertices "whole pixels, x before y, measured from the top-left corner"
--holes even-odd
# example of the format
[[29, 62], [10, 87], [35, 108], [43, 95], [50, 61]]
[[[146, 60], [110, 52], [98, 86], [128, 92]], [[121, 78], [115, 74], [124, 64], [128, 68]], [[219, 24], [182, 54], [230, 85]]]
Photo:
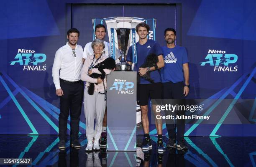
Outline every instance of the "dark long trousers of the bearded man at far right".
[[[166, 82], [163, 83], [163, 97], [164, 99], [184, 99], [184, 83], [178, 82]], [[176, 114], [181, 115], [184, 114], [184, 111], [175, 111], [174, 116]], [[167, 115], [167, 112], [166, 112]], [[167, 123], [166, 121], [166, 128], [168, 131], [169, 139], [176, 138], [177, 140], [181, 140], [184, 137], [185, 131], [185, 120], [184, 119], [177, 119], [176, 124], [174, 123]], [[176, 137], [176, 128], [177, 128], [177, 137]]]

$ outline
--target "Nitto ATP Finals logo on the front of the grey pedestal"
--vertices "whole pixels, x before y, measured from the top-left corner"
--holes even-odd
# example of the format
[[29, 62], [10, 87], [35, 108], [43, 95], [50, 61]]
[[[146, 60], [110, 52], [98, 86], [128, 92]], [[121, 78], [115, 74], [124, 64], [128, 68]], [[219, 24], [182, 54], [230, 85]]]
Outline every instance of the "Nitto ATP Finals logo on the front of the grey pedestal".
[[126, 82], [126, 80], [123, 79], [115, 79], [113, 87], [110, 87], [110, 90], [117, 90], [118, 94], [133, 94], [134, 90], [134, 83], [133, 82]]

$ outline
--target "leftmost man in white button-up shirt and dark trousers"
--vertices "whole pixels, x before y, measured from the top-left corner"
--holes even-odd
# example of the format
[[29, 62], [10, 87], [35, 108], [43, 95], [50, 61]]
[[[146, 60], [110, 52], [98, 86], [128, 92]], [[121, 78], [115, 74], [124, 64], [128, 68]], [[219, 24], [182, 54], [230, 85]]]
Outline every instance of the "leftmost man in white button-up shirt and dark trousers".
[[77, 45], [79, 30], [67, 31], [68, 42], [56, 51], [52, 76], [56, 95], [60, 97], [59, 149], [66, 148], [67, 119], [70, 109], [72, 147], [79, 149], [79, 121], [83, 100], [84, 82], [81, 80], [83, 48]]

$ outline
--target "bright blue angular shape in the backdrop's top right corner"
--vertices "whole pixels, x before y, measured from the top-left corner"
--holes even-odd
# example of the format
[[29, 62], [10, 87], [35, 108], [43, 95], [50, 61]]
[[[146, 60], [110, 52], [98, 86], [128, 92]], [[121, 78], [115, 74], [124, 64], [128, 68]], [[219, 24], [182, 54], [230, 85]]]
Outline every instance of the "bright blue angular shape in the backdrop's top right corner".
[[255, 0], [202, 0], [187, 35], [256, 40]]

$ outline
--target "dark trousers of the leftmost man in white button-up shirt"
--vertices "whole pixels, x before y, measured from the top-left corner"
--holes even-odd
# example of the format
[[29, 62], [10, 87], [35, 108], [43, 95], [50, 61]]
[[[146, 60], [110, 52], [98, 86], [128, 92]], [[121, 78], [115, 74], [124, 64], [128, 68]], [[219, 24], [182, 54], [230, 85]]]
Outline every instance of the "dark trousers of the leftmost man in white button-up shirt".
[[84, 96], [84, 82], [80, 80], [70, 83], [60, 79], [60, 85], [64, 95], [60, 96], [59, 139], [66, 140], [69, 110], [71, 117], [71, 139], [78, 139], [79, 121]]

